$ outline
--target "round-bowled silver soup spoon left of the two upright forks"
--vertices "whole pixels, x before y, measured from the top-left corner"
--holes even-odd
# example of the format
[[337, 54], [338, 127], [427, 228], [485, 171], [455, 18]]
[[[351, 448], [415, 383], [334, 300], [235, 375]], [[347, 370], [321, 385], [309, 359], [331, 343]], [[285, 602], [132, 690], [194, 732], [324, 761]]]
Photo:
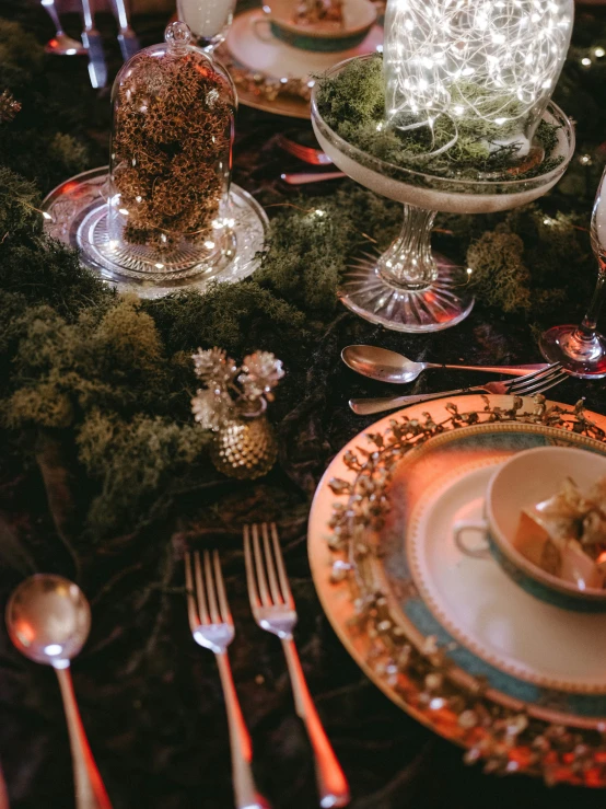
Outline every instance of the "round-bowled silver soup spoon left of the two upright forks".
[[112, 809], [80, 718], [69, 670], [71, 658], [82, 649], [91, 628], [91, 608], [84, 593], [62, 576], [31, 576], [9, 599], [7, 627], [22, 655], [53, 666], [57, 673], [70, 737], [77, 809]]

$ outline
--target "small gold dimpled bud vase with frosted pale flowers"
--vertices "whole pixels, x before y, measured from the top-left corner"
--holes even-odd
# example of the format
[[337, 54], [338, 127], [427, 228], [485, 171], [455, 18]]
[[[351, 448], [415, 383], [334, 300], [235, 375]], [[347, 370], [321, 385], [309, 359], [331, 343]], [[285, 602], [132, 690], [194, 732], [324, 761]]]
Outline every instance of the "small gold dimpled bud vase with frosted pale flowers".
[[266, 409], [284, 375], [281, 361], [269, 351], [255, 351], [238, 368], [219, 348], [200, 348], [193, 359], [205, 388], [191, 400], [191, 411], [203, 429], [214, 432], [210, 450], [214, 466], [240, 479], [266, 475], [278, 458]]

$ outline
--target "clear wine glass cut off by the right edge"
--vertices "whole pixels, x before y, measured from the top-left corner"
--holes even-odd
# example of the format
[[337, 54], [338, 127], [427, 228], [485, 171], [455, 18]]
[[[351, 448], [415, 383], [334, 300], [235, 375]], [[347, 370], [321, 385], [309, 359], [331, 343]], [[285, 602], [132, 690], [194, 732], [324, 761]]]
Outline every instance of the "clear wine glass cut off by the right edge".
[[597, 320], [606, 297], [606, 171], [602, 175], [592, 216], [592, 247], [597, 258], [595, 292], [581, 325], [553, 326], [540, 336], [539, 346], [549, 362], [561, 362], [573, 377], [606, 377], [606, 338]]

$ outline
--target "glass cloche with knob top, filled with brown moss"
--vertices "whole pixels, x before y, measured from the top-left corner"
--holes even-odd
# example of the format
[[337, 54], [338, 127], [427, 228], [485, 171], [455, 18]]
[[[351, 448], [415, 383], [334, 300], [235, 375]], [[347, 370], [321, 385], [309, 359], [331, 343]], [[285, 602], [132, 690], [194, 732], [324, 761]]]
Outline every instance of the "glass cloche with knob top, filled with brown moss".
[[[236, 93], [183, 22], [116, 77], [105, 251], [125, 275], [164, 281], [229, 255]], [[108, 255], [109, 257], [109, 255]]]

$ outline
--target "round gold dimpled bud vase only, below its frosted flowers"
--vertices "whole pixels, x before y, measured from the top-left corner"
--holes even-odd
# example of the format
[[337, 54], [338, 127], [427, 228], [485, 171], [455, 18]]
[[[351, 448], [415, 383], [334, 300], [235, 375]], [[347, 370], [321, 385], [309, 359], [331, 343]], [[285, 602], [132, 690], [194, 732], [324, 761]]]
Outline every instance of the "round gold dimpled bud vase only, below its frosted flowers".
[[254, 481], [266, 475], [278, 458], [278, 441], [267, 416], [226, 421], [214, 436], [210, 458], [229, 477]]

